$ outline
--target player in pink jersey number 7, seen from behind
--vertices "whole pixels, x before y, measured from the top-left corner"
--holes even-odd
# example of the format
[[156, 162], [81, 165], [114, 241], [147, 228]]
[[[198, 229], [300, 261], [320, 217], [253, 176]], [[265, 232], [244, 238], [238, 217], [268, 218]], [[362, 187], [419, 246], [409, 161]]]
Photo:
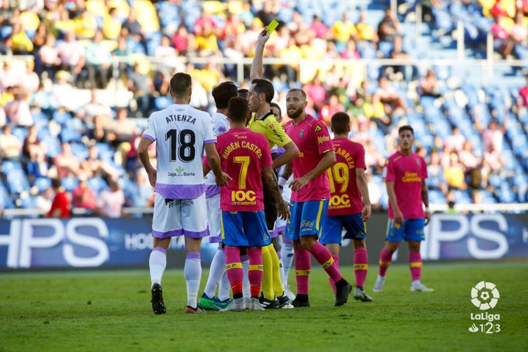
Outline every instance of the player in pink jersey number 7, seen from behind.
[[[218, 137], [216, 145], [222, 170], [233, 174], [228, 187], [220, 190], [225, 269], [233, 291], [233, 301], [221, 311], [263, 310], [258, 300], [263, 271], [262, 247], [269, 245], [271, 238], [262, 202], [262, 178], [276, 200], [278, 214], [285, 219], [289, 217], [287, 204], [281, 198], [277, 178], [271, 169], [273, 162], [268, 142], [261, 134], [246, 128], [247, 111], [246, 100], [231, 98], [228, 106], [231, 129]], [[208, 161], [204, 164], [209, 166]], [[242, 247], [247, 247], [249, 256], [249, 306], [242, 295]]]

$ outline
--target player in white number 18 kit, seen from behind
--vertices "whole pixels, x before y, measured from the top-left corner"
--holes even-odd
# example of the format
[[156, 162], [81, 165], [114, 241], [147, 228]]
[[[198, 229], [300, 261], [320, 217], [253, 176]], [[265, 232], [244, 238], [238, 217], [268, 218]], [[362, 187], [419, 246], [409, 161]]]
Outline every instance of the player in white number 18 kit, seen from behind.
[[[185, 236], [185, 267], [187, 285], [186, 313], [203, 313], [196, 304], [202, 267], [200, 244], [209, 235], [203, 178], [203, 153], [212, 166], [218, 186], [227, 185], [229, 176], [222, 172], [216, 152], [211, 117], [188, 105], [192, 94], [191, 76], [176, 73], [171, 78], [170, 94], [174, 105], [148, 118], [139, 142], [139, 160], [154, 187], [154, 218], [152, 236], [154, 249], [150, 253], [152, 309], [156, 314], [166, 312], [161, 288], [167, 263], [167, 248], [173, 236]], [[148, 146], [156, 142], [157, 169], [148, 158]]]

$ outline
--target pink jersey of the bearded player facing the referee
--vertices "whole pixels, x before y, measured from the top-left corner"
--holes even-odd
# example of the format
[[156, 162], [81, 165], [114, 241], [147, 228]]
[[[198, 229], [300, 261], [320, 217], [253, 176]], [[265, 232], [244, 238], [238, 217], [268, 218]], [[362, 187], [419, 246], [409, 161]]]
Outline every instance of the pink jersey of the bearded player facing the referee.
[[[291, 161], [294, 179], [303, 177], [313, 170], [323, 154], [334, 150], [334, 145], [325, 124], [308, 115], [298, 125], [290, 121], [284, 127], [286, 134], [297, 145], [300, 155]], [[330, 198], [330, 186], [326, 172], [310, 181], [299, 191], [291, 193], [291, 200], [305, 202], [308, 200], [322, 200]]]

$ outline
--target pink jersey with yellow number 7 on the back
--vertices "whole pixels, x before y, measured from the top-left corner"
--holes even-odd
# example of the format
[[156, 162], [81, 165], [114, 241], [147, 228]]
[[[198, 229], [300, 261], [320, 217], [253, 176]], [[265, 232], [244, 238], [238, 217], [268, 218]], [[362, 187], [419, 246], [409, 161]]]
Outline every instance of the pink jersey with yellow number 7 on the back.
[[[248, 128], [232, 128], [218, 136], [222, 171], [232, 178], [220, 188], [222, 211], [264, 210], [262, 168], [273, 165], [268, 140]], [[204, 164], [208, 165], [207, 159]]]

